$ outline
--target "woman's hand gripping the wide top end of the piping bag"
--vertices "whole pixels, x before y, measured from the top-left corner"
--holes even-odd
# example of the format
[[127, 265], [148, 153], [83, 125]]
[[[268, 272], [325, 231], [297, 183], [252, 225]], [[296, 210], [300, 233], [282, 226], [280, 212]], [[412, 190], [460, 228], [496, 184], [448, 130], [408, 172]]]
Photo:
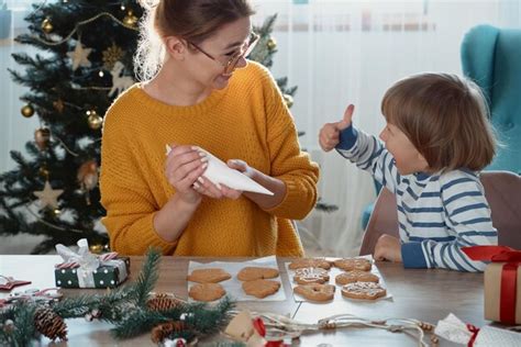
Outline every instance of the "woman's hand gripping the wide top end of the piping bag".
[[196, 146], [170, 145], [170, 148], [165, 163], [165, 176], [182, 201], [198, 204], [201, 195], [195, 190], [195, 183], [204, 172], [208, 158]]

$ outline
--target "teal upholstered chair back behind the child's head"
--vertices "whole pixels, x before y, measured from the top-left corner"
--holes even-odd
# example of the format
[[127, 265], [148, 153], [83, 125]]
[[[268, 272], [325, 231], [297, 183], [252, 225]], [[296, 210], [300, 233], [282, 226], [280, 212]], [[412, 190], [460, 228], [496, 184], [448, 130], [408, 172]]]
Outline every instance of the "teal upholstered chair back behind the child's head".
[[463, 74], [483, 89], [503, 144], [487, 170], [521, 175], [521, 29], [475, 26], [461, 54]]

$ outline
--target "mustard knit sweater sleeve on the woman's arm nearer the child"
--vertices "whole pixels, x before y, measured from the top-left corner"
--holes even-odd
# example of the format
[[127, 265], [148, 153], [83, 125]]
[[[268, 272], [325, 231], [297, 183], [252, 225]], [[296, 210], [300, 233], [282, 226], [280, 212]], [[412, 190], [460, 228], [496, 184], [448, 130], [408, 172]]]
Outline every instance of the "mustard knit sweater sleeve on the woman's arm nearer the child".
[[317, 203], [319, 166], [300, 149], [297, 128], [275, 80], [263, 70], [262, 83], [267, 122], [270, 176], [286, 184], [286, 195], [266, 212], [278, 217], [302, 220]]

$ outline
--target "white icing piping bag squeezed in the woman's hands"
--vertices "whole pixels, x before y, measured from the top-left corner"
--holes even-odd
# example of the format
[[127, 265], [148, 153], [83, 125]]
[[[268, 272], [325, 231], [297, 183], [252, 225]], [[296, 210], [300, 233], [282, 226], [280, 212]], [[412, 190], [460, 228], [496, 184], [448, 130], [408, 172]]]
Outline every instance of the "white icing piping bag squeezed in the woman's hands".
[[[224, 161], [222, 161], [208, 150], [204, 150], [203, 148], [199, 149], [204, 152], [208, 157], [208, 167], [203, 176], [204, 178], [208, 178], [213, 184], [224, 184], [232, 189], [251, 191], [254, 193], [267, 195], [274, 194], [271, 191], [255, 182], [253, 179], [251, 179], [243, 172], [230, 168], [226, 164], [224, 164]], [[168, 155], [170, 150], [170, 146], [166, 145], [166, 155]]]

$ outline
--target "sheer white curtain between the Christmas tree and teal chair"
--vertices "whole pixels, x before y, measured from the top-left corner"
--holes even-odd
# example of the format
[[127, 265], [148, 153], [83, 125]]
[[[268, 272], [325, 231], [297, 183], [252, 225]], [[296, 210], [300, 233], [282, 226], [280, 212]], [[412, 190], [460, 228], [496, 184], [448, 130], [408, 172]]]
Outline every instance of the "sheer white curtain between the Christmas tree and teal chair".
[[337, 154], [323, 154], [318, 132], [356, 105], [354, 122], [377, 135], [380, 100], [393, 81], [421, 71], [461, 74], [459, 44], [472, 26], [520, 26], [520, 1], [255, 1], [256, 24], [278, 13], [273, 74], [298, 86], [291, 111], [304, 148], [320, 163], [320, 195], [339, 211], [313, 211], [299, 223], [312, 254], [356, 255], [361, 213], [374, 201], [373, 180]]

